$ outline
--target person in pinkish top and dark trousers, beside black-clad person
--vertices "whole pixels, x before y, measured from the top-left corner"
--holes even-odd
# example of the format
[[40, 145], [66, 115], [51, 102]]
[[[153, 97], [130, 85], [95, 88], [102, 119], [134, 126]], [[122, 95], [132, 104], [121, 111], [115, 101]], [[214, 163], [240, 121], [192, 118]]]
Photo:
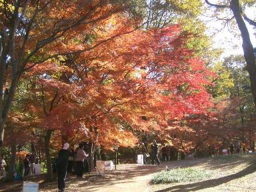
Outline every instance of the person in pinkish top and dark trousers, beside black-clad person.
[[83, 143], [79, 144], [79, 149], [77, 150], [77, 155], [75, 155], [75, 164], [77, 177], [83, 177], [83, 162], [88, 155], [83, 151]]

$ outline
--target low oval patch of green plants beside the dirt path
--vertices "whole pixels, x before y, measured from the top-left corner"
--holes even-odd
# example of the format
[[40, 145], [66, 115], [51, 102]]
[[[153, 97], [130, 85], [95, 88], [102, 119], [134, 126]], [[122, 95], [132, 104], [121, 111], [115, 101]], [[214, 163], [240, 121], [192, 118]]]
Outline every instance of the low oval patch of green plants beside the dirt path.
[[203, 181], [211, 177], [211, 171], [199, 168], [179, 168], [171, 171], [156, 173], [151, 179], [151, 184], [159, 183], [180, 183], [187, 181]]

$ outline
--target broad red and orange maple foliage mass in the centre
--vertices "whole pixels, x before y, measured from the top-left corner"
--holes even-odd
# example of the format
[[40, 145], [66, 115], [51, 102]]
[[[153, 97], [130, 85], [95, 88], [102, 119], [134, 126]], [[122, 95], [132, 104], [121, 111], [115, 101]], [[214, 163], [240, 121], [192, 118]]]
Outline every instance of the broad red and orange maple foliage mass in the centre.
[[[113, 33], [120, 29], [112, 27]], [[211, 72], [187, 49], [186, 37], [178, 25], [134, 31], [27, 71], [34, 95], [29, 106], [43, 119], [45, 143], [61, 130], [63, 137], [89, 139], [93, 154], [96, 143], [134, 145], [133, 130], [161, 131], [168, 119], [203, 113], [211, 105], [205, 89]]]

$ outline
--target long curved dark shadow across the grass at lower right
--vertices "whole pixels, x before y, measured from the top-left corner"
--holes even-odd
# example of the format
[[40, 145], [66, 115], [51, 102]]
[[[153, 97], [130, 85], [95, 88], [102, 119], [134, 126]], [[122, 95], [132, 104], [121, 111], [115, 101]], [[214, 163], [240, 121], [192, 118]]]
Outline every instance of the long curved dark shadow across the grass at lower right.
[[232, 175], [227, 175], [225, 177], [221, 177], [218, 179], [209, 179], [206, 181], [201, 181], [198, 183], [191, 183], [191, 184], [185, 184], [185, 185], [175, 185], [172, 187], [168, 187], [166, 189], [158, 190], [157, 192], [167, 192], [167, 191], [197, 191], [200, 189], [207, 189], [210, 187], [215, 187], [217, 185], [221, 185], [223, 183], [227, 183], [233, 179], [237, 179], [239, 177], [243, 177], [245, 175], [249, 175], [256, 171], [256, 165], [255, 163], [249, 165], [242, 171], [239, 171], [237, 173], [234, 173]]

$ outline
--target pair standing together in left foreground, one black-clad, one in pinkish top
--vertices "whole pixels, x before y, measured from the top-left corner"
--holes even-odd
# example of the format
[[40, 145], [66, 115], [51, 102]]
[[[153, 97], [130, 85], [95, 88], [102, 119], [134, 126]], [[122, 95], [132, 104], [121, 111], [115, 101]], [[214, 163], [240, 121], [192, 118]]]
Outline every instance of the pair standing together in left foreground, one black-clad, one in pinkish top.
[[84, 143], [80, 143], [76, 153], [74, 154], [72, 150], [69, 151], [69, 143], [64, 143], [63, 149], [59, 151], [57, 161], [59, 192], [65, 191], [65, 179], [67, 176], [67, 170], [69, 169], [69, 171], [72, 171], [72, 162], [74, 162], [73, 160], [75, 160], [75, 173], [77, 174], [77, 177], [83, 178], [84, 161], [89, 156], [87, 153], [85, 153], [84, 149]]

